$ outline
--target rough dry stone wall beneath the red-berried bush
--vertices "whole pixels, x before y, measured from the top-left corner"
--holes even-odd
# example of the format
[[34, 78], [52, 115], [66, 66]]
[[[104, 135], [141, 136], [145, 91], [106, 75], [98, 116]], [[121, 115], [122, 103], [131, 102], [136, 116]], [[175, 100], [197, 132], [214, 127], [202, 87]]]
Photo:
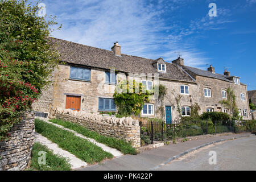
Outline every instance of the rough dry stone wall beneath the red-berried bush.
[[34, 144], [34, 113], [24, 114], [22, 122], [11, 129], [10, 139], [0, 142], [0, 171], [22, 171], [31, 159]]

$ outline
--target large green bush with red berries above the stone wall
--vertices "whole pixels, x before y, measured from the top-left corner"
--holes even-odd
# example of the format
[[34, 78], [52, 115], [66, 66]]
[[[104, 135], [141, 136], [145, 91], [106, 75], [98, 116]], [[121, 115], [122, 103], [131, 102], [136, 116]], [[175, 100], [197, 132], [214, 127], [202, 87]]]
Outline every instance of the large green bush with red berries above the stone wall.
[[0, 1], [0, 140], [31, 108], [59, 63], [48, 37], [54, 18], [37, 16], [38, 3]]

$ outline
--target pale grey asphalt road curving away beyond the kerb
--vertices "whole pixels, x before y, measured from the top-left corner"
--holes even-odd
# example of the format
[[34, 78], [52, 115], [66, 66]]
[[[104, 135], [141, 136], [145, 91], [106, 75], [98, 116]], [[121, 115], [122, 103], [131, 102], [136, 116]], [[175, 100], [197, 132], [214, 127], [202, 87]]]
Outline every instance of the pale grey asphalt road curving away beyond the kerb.
[[[210, 151], [216, 152], [216, 164]], [[214, 153], [213, 152], [213, 153]], [[256, 170], [256, 136], [229, 140], [183, 156], [158, 169], [158, 171], [229, 171]]]

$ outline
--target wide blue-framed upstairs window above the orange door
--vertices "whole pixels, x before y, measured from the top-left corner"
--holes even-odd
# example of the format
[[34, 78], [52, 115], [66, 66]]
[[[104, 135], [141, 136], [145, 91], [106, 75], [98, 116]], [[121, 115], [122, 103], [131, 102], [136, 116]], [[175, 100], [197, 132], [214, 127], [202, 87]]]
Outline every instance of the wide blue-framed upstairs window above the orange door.
[[70, 78], [75, 78], [79, 80], [90, 80], [90, 69], [71, 67], [70, 68]]

